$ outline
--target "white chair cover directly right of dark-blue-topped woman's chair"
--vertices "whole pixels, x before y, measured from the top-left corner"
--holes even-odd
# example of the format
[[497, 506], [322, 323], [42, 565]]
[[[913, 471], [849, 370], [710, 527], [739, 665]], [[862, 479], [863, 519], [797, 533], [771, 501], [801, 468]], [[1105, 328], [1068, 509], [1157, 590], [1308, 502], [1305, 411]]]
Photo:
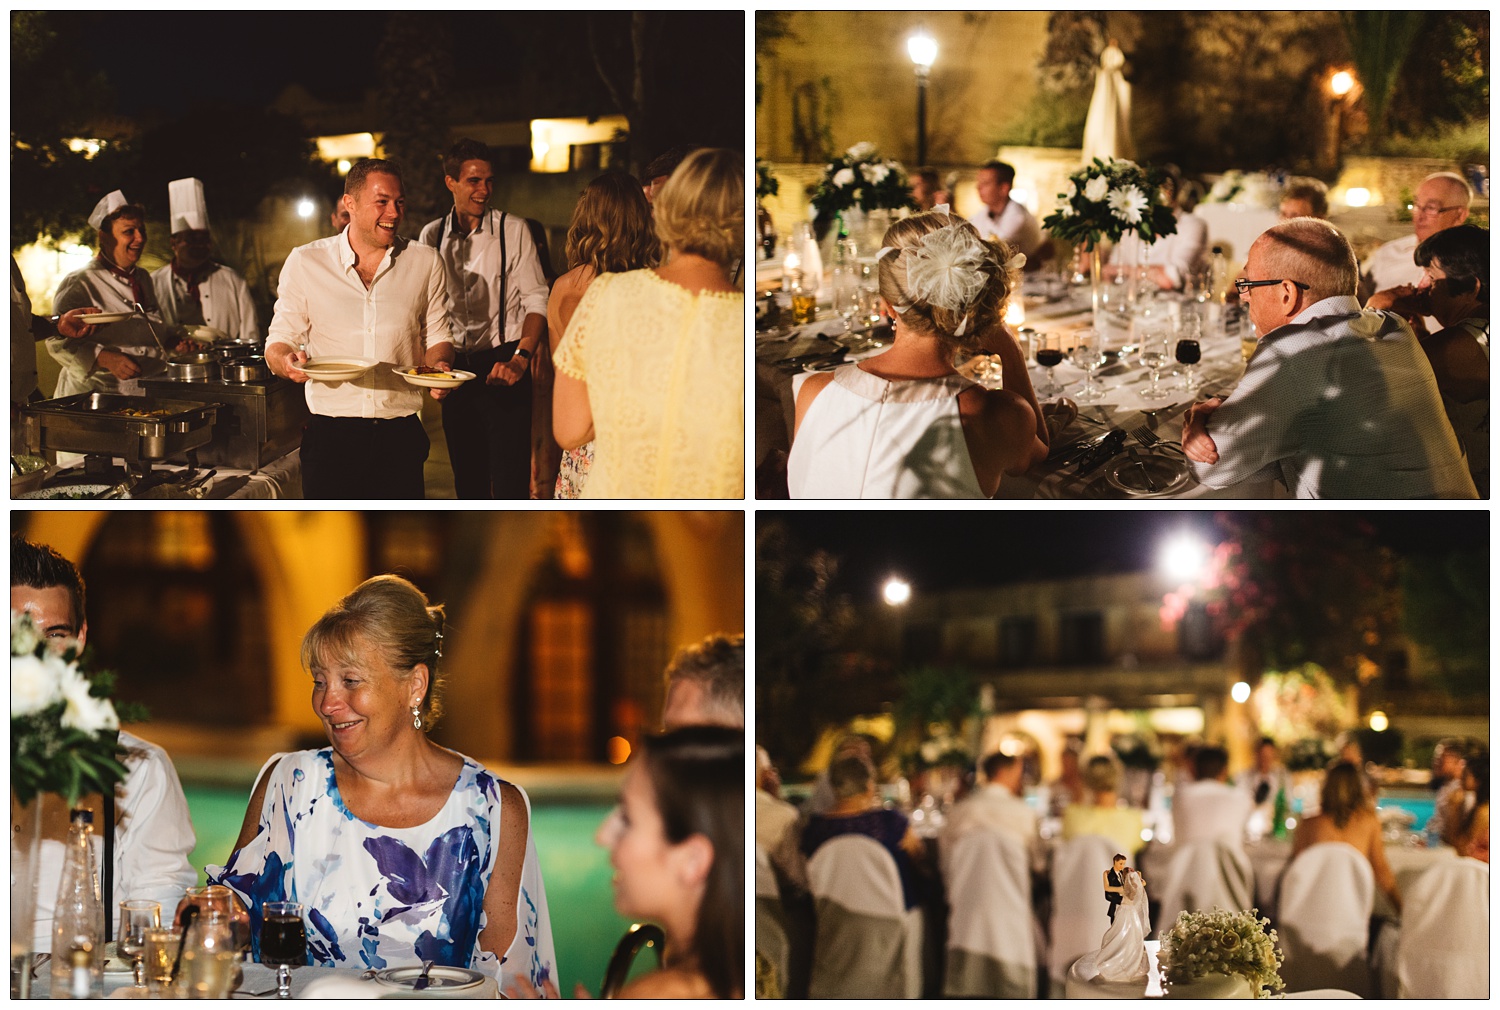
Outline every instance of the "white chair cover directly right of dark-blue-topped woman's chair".
[[948, 894], [945, 996], [1036, 996], [1036, 936], [1024, 846], [999, 831], [963, 834], [944, 867]]

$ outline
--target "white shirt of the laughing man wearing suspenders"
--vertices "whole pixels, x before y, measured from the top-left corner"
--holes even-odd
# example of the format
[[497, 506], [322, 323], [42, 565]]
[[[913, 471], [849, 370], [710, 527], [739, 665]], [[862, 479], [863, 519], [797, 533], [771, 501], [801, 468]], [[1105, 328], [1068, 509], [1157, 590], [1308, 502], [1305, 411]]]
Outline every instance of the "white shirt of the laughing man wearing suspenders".
[[[501, 345], [500, 329], [500, 218], [488, 210], [474, 231], [464, 234], [458, 212], [429, 221], [418, 242], [438, 248], [447, 273], [448, 306], [453, 315], [453, 347], [483, 351]], [[444, 222], [447, 227], [444, 228]], [[525, 218], [506, 215], [506, 341], [520, 339], [528, 315], [548, 315], [548, 279], [542, 273], [537, 246]]]

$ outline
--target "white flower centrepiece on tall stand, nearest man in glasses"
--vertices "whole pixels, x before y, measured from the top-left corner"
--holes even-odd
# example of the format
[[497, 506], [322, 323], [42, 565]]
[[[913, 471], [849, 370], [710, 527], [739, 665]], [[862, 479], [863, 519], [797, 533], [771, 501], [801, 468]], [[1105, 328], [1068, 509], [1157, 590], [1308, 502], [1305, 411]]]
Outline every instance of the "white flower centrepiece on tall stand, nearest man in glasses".
[[1089, 249], [1130, 234], [1155, 242], [1178, 230], [1172, 207], [1161, 200], [1161, 173], [1132, 161], [1095, 158], [1068, 177], [1058, 209], [1041, 224], [1059, 239]]

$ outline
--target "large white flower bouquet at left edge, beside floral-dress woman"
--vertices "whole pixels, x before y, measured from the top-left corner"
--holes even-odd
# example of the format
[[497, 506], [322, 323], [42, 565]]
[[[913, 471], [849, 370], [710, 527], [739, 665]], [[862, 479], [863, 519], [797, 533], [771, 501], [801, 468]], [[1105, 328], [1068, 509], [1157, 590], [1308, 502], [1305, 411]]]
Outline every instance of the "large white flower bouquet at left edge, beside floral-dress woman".
[[[57, 653], [28, 614], [10, 612], [10, 789], [22, 804], [39, 792], [78, 797], [124, 779], [114, 675], [86, 674], [76, 644]], [[140, 705], [122, 705], [129, 719]]]

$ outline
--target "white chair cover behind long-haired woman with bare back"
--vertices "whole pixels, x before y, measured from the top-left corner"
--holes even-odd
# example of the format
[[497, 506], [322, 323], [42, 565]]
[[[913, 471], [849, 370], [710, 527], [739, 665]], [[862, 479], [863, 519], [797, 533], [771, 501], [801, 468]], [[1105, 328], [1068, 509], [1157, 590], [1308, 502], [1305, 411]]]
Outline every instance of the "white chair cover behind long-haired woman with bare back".
[[1376, 875], [1347, 842], [1304, 849], [1281, 876], [1276, 933], [1288, 989], [1347, 989], [1371, 995], [1370, 914]]

